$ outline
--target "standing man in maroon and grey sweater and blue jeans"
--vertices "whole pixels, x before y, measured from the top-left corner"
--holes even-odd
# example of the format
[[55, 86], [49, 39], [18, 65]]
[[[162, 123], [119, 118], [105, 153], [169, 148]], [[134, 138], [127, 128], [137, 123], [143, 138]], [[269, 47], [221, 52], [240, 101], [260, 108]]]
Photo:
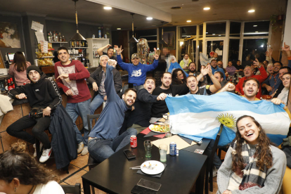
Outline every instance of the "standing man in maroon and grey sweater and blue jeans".
[[[74, 122], [74, 129], [77, 134], [78, 149], [77, 153], [86, 155], [88, 153], [88, 122], [87, 115], [90, 114], [91, 93], [86, 80], [90, 77], [89, 71], [79, 60], [69, 60], [70, 55], [67, 48], [58, 48], [58, 59], [55, 64], [55, 76], [58, 87], [63, 89], [67, 95], [67, 105], [65, 110]], [[77, 128], [77, 117], [81, 117], [84, 126], [84, 136]]]

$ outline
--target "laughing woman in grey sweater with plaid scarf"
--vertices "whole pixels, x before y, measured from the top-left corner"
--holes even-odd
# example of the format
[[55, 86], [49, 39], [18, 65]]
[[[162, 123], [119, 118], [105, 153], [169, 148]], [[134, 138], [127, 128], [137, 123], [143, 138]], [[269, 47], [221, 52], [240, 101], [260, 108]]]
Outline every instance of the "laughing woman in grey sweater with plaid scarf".
[[217, 174], [217, 193], [279, 193], [287, 165], [285, 153], [272, 145], [253, 117], [239, 117], [236, 127]]

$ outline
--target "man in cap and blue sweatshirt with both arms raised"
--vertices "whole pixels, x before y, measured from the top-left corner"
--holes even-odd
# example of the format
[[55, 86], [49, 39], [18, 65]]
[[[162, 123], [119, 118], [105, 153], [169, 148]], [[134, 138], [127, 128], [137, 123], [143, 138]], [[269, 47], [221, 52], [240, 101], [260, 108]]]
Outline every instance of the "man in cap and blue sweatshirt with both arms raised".
[[120, 54], [122, 53], [122, 46], [118, 48], [115, 46], [117, 51], [117, 63], [122, 67], [122, 69], [129, 72], [129, 83], [137, 84], [137, 90], [143, 89], [143, 83], [145, 82], [146, 72], [155, 70], [159, 63], [159, 55], [155, 51], [155, 60], [151, 65], [145, 65], [140, 63], [140, 59], [137, 53], [131, 55], [131, 63], [123, 63]]

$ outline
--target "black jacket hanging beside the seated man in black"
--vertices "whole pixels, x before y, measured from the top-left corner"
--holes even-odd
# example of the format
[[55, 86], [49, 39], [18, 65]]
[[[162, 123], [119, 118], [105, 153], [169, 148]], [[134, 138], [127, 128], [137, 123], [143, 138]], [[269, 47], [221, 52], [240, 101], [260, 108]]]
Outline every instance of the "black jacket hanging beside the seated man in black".
[[62, 169], [77, 158], [77, 138], [74, 123], [62, 104], [58, 105], [51, 116], [49, 125], [51, 146], [56, 160], [56, 168]]

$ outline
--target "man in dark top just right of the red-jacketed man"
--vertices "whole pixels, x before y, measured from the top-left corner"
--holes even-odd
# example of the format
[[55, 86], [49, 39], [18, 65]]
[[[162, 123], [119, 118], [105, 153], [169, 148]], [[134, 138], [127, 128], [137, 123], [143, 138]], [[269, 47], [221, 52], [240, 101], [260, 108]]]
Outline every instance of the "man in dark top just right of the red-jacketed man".
[[262, 87], [269, 91], [269, 95], [272, 95], [282, 83], [282, 80], [279, 78], [280, 67], [283, 67], [283, 64], [280, 63], [280, 61], [273, 63], [273, 75], [269, 75], [269, 77], [261, 84]]

